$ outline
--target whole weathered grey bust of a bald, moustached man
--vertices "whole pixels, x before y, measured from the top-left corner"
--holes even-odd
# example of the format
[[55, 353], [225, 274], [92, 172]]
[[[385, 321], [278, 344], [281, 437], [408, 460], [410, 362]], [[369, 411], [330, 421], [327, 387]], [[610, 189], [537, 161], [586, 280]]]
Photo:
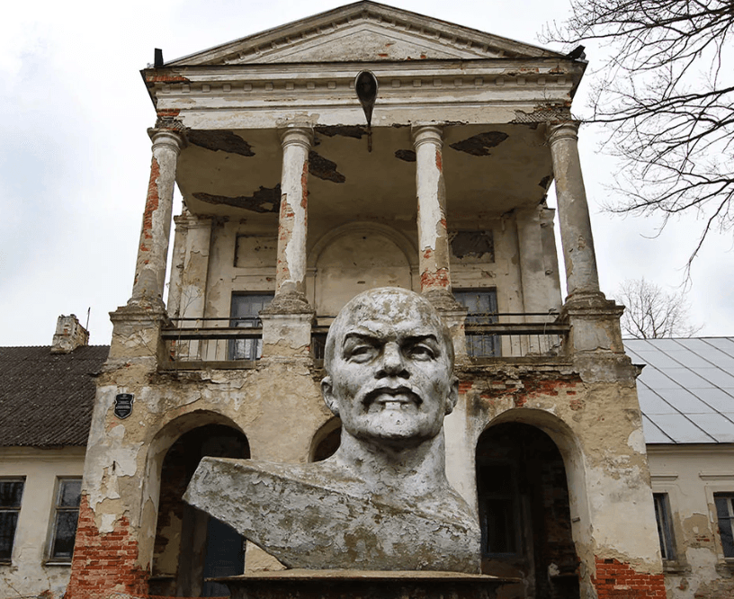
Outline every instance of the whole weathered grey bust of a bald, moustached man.
[[453, 346], [412, 291], [361, 293], [327, 337], [321, 389], [342, 419], [328, 460], [204, 458], [184, 499], [291, 568], [479, 571], [479, 525], [445, 475]]

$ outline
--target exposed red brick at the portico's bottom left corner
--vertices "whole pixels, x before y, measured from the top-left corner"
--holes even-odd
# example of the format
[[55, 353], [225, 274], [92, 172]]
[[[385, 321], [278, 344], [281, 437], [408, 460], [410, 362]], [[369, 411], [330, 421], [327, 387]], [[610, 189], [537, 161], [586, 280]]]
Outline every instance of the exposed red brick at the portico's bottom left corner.
[[138, 564], [138, 541], [122, 516], [112, 532], [101, 533], [88, 497], [79, 505], [71, 578], [65, 599], [90, 599], [111, 592], [148, 594], [148, 571]]

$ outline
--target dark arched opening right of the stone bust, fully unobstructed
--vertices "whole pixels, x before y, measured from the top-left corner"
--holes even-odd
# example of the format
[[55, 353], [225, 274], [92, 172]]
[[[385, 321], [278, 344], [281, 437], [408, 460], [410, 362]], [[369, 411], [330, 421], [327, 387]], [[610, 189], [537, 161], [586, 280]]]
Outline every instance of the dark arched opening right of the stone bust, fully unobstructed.
[[493, 425], [479, 437], [476, 463], [482, 572], [521, 578], [507, 597], [577, 598], [566, 468], [556, 443], [532, 425]]

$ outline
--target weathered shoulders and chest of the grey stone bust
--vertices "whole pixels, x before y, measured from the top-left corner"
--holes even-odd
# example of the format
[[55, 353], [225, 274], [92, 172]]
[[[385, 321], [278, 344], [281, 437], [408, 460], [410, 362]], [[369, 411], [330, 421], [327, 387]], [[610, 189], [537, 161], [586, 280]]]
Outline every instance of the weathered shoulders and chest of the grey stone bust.
[[476, 518], [443, 496], [443, 509], [382, 501], [335, 460], [204, 458], [183, 498], [290, 568], [479, 571]]

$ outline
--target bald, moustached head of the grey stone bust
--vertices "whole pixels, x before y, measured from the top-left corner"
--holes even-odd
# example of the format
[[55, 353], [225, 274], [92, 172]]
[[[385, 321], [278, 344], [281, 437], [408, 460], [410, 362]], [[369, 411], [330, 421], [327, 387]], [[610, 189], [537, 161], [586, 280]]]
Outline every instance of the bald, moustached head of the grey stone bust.
[[327, 406], [363, 440], [421, 442], [439, 434], [458, 397], [441, 318], [412, 291], [371, 290], [339, 313], [327, 340]]

